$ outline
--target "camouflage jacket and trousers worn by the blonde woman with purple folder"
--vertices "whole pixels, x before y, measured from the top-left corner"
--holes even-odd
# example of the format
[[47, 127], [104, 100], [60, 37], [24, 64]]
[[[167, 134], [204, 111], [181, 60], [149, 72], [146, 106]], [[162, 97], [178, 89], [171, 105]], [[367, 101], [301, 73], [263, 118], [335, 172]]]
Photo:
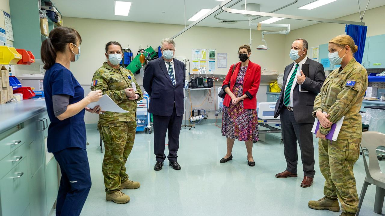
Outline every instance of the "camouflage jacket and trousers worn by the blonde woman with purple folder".
[[[314, 101], [314, 117], [319, 110], [330, 114], [328, 119], [333, 123], [345, 116], [336, 141], [320, 139], [318, 142], [320, 169], [326, 179], [323, 193], [327, 198], [338, 198], [345, 213], [358, 210], [353, 165], [360, 154], [359, 111], [367, 87], [367, 71], [353, 58], [342, 71], [336, 69], [330, 73]], [[330, 128], [320, 126], [322, 134], [329, 131]]]

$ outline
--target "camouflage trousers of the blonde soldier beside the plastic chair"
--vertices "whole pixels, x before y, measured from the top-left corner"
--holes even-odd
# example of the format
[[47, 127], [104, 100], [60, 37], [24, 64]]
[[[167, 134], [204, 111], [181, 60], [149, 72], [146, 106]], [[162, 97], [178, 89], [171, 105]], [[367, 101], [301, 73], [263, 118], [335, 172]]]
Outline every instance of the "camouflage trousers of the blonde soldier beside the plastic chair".
[[361, 139], [319, 140], [320, 169], [325, 177], [323, 193], [337, 199], [345, 213], [358, 211], [358, 194], [353, 166], [360, 155]]

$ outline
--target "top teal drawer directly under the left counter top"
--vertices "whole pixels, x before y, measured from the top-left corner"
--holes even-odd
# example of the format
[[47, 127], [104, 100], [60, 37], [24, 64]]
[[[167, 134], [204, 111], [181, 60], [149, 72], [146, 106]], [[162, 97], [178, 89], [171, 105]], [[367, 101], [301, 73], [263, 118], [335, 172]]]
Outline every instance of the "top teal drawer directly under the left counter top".
[[0, 159], [21, 146], [26, 140], [24, 124], [17, 125], [0, 135]]

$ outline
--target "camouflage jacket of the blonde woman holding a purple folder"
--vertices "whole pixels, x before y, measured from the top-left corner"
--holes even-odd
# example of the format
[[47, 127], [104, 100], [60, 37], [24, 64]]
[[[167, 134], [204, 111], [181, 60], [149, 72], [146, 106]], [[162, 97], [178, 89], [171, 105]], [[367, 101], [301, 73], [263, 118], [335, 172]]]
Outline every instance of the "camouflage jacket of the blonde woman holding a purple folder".
[[[368, 73], [355, 58], [340, 71], [333, 70], [326, 78], [321, 92], [314, 101], [313, 116], [317, 111], [328, 114], [329, 121], [336, 123], [345, 116], [338, 139], [358, 139], [362, 135], [362, 122], [359, 113], [362, 99], [368, 87]], [[331, 128], [320, 126], [322, 134], [328, 134]]]

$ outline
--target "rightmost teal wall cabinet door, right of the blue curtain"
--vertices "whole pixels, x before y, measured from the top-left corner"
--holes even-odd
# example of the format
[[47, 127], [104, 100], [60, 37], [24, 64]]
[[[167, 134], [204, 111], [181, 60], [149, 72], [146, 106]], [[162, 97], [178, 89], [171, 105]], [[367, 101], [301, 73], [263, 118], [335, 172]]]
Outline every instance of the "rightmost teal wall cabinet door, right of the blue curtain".
[[384, 68], [385, 35], [376, 35], [369, 38], [368, 66], [367, 68]]

